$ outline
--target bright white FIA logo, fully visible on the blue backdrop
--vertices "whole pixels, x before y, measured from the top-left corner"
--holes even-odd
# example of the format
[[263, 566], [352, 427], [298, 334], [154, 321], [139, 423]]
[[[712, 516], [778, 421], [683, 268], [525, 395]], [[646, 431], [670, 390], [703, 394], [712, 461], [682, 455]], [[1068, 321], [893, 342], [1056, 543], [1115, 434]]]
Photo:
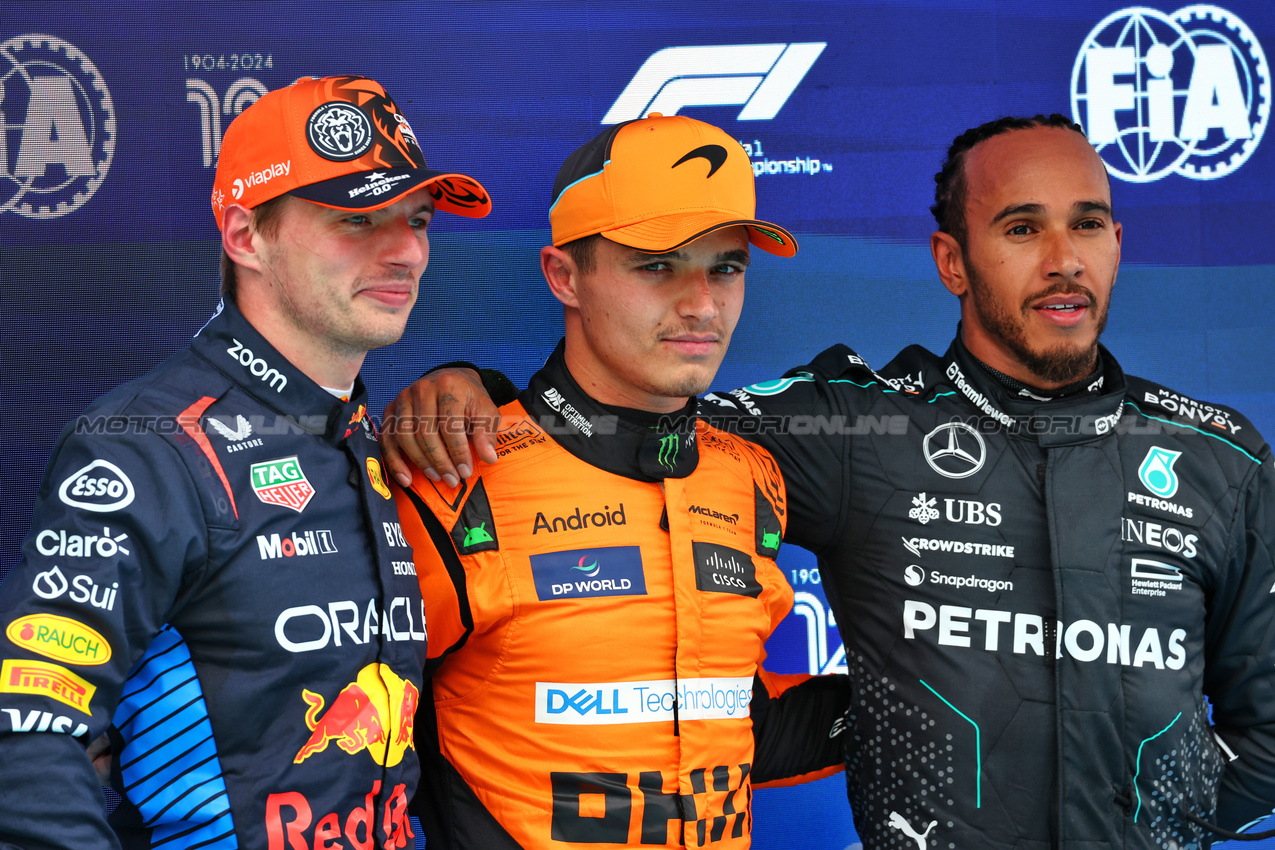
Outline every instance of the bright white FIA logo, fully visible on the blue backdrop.
[[1085, 38], [1071, 71], [1072, 117], [1107, 169], [1136, 184], [1225, 177], [1257, 148], [1270, 110], [1261, 45], [1213, 5], [1114, 11]]

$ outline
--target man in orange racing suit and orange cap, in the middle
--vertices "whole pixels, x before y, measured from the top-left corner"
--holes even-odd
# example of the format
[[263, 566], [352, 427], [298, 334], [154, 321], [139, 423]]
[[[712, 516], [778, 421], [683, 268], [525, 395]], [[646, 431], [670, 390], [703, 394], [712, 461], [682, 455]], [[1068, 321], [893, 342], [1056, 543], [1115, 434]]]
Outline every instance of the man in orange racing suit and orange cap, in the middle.
[[541, 251], [564, 342], [501, 409], [499, 465], [399, 491], [428, 624], [430, 846], [747, 847], [754, 784], [839, 767], [844, 677], [761, 669], [793, 600], [783, 479], [695, 412], [750, 246], [797, 250], [754, 217], [752, 180], [737, 141], [682, 116], [572, 153]]

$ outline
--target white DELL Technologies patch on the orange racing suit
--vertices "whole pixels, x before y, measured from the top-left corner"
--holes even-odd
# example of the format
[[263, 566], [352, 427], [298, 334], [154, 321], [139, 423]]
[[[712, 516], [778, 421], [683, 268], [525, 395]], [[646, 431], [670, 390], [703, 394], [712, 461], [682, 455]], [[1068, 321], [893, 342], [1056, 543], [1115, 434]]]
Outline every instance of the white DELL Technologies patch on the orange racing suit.
[[752, 679], [536, 683], [536, 723], [603, 726], [627, 723], [747, 717]]

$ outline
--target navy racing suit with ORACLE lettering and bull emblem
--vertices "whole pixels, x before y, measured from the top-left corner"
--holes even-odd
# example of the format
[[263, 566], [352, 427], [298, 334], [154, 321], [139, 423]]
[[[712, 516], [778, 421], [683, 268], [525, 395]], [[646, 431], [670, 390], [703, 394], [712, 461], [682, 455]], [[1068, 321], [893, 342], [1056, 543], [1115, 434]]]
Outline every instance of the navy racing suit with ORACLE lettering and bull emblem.
[[68, 427], [0, 585], [0, 847], [413, 846], [423, 608], [365, 401], [227, 305]]

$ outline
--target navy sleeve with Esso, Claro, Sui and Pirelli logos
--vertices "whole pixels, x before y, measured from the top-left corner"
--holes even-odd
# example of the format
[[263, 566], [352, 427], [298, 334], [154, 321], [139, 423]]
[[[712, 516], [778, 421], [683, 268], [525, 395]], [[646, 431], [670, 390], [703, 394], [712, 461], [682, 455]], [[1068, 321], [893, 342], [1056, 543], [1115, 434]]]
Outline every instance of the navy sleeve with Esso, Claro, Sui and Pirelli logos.
[[133, 422], [68, 428], [0, 584], [0, 846], [117, 846], [85, 748], [208, 554], [180, 454]]

